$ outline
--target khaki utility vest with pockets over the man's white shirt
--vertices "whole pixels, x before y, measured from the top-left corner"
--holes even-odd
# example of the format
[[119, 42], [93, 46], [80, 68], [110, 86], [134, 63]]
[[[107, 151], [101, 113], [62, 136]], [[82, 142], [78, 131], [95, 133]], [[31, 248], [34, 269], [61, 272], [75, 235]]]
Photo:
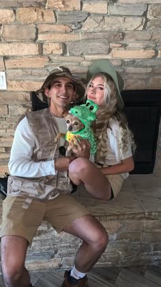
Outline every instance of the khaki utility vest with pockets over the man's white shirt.
[[[54, 160], [59, 158], [59, 140], [54, 142], [59, 133], [55, 116], [50, 110], [38, 110], [26, 114], [29, 126], [35, 139], [35, 147], [31, 160], [34, 162]], [[22, 118], [21, 118], [22, 119]], [[60, 193], [72, 191], [70, 178], [66, 171], [56, 172], [56, 175], [27, 178], [10, 175], [8, 177], [8, 195], [28, 195], [31, 199], [53, 199]]]

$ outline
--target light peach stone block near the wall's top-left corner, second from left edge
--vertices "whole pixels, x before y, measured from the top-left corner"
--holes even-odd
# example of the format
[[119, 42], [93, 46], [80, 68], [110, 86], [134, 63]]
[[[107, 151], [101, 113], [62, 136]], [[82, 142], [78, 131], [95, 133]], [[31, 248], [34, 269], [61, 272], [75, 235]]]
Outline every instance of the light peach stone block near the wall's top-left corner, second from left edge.
[[16, 19], [21, 23], [51, 22], [55, 23], [55, 14], [43, 8], [18, 8]]

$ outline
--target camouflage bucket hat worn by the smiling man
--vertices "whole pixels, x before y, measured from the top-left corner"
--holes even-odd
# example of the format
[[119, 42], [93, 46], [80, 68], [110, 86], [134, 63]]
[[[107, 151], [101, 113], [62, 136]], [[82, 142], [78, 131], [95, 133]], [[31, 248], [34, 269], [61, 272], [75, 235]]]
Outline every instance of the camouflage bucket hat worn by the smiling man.
[[48, 97], [46, 97], [46, 95], [44, 94], [44, 89], [50, 88], [50, 84], [52, 84], [53, 80], [57, 79], [57, 77], [68, 77], [72, 79], [76, 89], [76, 101], [81, 101], [81, 99], [83, 99], [83, 96], [85, 94], [85, 79], [78, 79], [77, 77], [74, 77], [72, 75], [69, 68], [65, 68], [64, 66], [58, 66], [50, 73], [50, 75], [48, 75], [44, 84], [42, 85], [42, 88], [35, 92], [41, 101], [44, 101], [44, 103], [48, 103]]

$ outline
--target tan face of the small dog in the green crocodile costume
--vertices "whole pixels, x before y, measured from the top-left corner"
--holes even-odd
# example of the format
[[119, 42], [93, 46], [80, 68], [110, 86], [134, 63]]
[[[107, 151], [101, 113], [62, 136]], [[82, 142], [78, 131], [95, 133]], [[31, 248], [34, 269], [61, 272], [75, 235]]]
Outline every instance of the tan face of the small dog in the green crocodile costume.
[[81, 121], [76, 118], [76, 116], [73, 116], [73, 114], [68, 114], [65, 116], [65, 121], [67, 124], [67, 130], [68, 132], [78, 132], [83, 129], [84, 125]]

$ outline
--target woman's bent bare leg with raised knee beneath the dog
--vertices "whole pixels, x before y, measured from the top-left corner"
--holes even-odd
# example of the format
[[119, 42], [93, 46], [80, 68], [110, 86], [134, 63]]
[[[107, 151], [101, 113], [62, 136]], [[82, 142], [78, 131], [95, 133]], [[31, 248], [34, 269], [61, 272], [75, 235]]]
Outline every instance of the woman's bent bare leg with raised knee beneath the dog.
[[70, 163], [69, 177], [77, 186], [83, 183], [89, 195], [103, 200], [111, 198], [108, 179], [87, 158], [76, 158]]

